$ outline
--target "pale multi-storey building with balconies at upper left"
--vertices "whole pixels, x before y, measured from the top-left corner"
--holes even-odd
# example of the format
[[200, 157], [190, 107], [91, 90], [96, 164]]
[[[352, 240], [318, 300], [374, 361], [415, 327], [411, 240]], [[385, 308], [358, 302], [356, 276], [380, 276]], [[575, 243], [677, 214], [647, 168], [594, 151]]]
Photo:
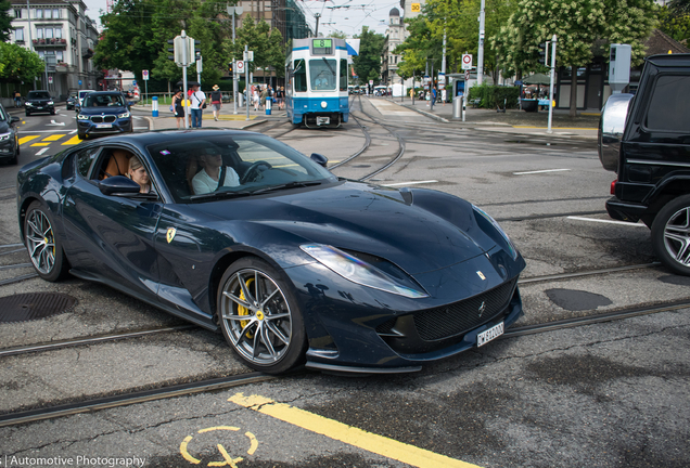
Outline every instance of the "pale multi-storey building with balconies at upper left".
[[61, 101], [77, 90], [95, 89], [101, 75], [92, 61], [99, 32], [86, 9], [81, 0], [12, 0], [10, 41], [43, 60], [36, 89]]

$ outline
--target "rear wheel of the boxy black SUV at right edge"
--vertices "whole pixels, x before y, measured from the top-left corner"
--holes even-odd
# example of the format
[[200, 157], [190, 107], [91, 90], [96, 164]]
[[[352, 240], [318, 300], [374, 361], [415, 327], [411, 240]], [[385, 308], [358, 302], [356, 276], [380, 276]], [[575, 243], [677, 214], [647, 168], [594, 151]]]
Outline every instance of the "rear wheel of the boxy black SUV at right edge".
[[659, 211], [652, 247], [664, 265], [690, 276], [690, 195], [674, 198]]

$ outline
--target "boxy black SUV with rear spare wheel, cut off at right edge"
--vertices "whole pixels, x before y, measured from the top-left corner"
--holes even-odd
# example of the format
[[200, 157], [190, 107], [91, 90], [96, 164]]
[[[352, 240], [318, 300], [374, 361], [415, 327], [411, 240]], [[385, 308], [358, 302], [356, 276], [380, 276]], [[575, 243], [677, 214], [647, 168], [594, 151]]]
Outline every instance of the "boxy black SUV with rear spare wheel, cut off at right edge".
[[615, 171], [606, 211], [642, 220], [662, 263], [690, 275], [690, 54], [647, 58], [637, 94], [612, 94], [599, 159]]

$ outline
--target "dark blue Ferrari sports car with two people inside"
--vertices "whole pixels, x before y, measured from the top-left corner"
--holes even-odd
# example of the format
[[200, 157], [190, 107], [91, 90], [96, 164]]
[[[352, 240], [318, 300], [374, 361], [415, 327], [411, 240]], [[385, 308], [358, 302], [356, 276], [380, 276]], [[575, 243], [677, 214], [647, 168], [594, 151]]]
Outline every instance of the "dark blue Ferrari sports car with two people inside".
[[101, 139], [21, 170], [22, 236], [44, 280], [220, 329], [272, 374], [419, 370], [522, 314], [525, 262], [488, 214], [324, 166], [253, 132]]

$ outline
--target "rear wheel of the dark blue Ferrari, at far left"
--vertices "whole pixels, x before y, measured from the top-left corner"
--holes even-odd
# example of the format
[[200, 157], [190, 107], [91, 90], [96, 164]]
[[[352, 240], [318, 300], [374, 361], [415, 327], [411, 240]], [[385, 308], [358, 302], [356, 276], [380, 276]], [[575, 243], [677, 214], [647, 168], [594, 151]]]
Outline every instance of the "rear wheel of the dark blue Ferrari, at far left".
[[24, 244], [34, 269], [40, 277], [49, 282], [64, 278], [69, 270], [48, 207], [40, 202], [29, 205], [24, 221]]

